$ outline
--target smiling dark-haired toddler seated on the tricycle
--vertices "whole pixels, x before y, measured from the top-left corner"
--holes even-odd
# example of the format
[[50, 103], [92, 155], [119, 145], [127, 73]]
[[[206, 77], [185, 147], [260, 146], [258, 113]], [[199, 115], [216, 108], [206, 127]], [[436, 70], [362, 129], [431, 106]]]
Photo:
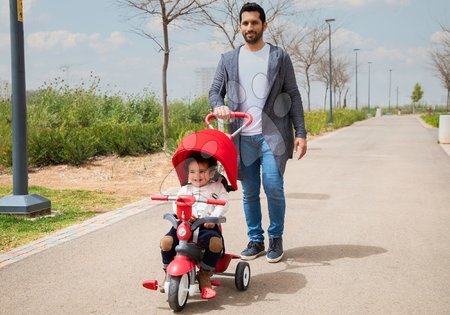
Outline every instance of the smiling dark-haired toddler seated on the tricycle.
[[[201, 153], [194, 153], [186, 159], [185, 163], [188, 170], [188, 183], [181, 187], [178, 195], [194, 195], [228, 201], [228, 193], [222, 182], [212, 180], [217, 168], [216, 159], [205, 157]], [[227, 210], [228, 203], [225, 206], [215, 206], [196, 202], [192, 206], [190, 221], [194, 222], [197, 218], [206, 216], [221, 217]], [[174, 212], [176, 213], [175, 204]], [[178, 243], [176, 229], [172, 227], [161, 239], [160, 244], [164, 271], [175, 257], [175, 247]], [[198, 273], [202, 298], [212, 299], [216, 296], [216, 291], [211, 286], [210, 273], [214, 270], [223, 250], [222, 233], [216, 224], [205, 223], [199, 228], [198, 245], [205, 249]], [[165, 277], [166, 274], [163, 283], [166, 280]]]

